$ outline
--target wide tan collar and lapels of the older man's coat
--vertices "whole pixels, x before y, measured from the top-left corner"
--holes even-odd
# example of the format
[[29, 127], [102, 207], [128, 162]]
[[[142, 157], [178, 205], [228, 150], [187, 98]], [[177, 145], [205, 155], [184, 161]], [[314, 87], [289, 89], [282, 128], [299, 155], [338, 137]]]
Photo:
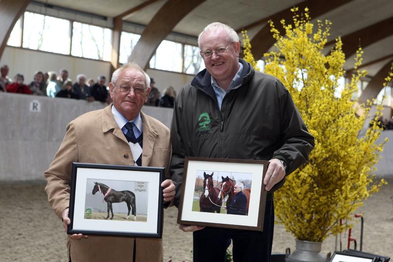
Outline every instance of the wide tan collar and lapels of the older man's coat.
[[[128, 145], [127, 139], [121, 131], [120, 127], [117, 125], [114, 117], [112, 115], [112, 105], [104, 108], [101, 117], [102, 120], [102, 132], [106, 133], [112, 130], [112, 134], [118, 139], [122, 140]], [[143, 149], [142, 149], [142, 166], [148, 166], [150, 163], [151, 156], [153, 154], [153, 147], [157, 136], [160, 135], [156, 125], [149, 119], [149, 116], [140, 112], [140, 117], [142, 118], [143, 125]], [[131, 149], [130, 149], [131, 153]]]

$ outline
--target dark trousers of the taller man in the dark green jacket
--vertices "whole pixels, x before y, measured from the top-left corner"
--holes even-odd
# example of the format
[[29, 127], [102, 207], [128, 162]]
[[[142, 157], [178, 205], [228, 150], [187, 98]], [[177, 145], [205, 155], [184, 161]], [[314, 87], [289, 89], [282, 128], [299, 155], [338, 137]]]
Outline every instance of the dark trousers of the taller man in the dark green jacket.
[[211, 227], [194, 232], [194, 262], [225, 262], [231, 239], [234, 262], [270, 262], [273, 229], [272, 199], [266, 202], [263, 232]]

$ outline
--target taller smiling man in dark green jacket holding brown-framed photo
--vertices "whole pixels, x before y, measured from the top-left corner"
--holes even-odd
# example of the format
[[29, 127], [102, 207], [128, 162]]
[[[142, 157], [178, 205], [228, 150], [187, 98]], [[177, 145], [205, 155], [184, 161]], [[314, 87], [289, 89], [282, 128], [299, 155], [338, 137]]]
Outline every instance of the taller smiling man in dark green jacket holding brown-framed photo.
[[194, 232], [194, 261], [225, 261], [233, 241], [234, 261], [270, 261], [273, 191], [308, 161], [314, 146], [288, 90], [282, 83], [239, 59], [237, 33], [212, 23], [198, 37], [206, 69], [180, 90], [171, 126], [170, 172], [180, 198], [184, 158], [269, 160], [263, 232], [179, 225]]

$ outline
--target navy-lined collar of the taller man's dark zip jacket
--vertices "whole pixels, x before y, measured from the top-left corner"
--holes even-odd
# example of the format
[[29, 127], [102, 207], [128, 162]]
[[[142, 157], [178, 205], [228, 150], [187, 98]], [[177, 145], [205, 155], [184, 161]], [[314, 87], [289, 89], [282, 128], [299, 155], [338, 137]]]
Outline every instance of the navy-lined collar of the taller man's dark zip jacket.
[[[252, 77], [254, 75], [254, 69], [248, 62], [246, 62], [245, 60], [243, 60], [241, 58], [239, 58], [239, 62], [243, 65], [242, 74], [240, 75], [240, 78], [242, 79], [241, 86], [243, 86], [247, 82], [249, 82], [250, 79], [252, 79]], [[211, 75], [206, 70], [206, 68], [203, 69], [202, 71], [200, 71], [199, 73], [197, 73], [197, 75], [194, 77], [193, 81], [191, 81], [191, 85], [202, 90], [206, 94], [213, 97], [215, 100], [217, 99], [216, 95], [214, 93], [214, 90], [211, 87]]]

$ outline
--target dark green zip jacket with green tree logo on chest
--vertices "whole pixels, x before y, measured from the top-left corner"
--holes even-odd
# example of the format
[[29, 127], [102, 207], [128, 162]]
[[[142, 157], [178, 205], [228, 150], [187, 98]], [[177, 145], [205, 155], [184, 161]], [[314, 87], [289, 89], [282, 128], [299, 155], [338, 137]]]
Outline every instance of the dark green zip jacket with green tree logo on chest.
[[[204, 69], [183, 87], [176, 100], [171, 126], [172, 160], [169, 171], [179, 204], [184, 157], [270, 160], [286, 163], [286, 175], [306, 163], [314, 147], [292, 97], [273, 76], [243, 64], [242, 85], [229, 91], [221, 111]], [[268, 193], [284, 183], [284, 179]]]

